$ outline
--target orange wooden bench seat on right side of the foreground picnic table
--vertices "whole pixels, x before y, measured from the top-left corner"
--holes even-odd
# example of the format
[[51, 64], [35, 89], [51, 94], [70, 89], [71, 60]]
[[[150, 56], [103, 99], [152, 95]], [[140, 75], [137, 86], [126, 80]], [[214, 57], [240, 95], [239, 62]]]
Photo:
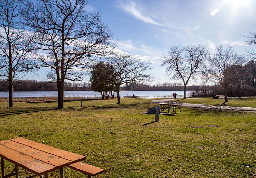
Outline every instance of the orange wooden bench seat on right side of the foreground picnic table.
[[77, 163], [68, 165], [68, 167], [70, 167], [71, 169], [74, 169], [76, 171], [80, 171], [80, 172], [84, 173], [85, 175], [88, 175], [89, 178], [104, 172], [104, 170], [99, 167], [95, 167], [95, 166], [85, 164], [82, 162], [77, 162]]

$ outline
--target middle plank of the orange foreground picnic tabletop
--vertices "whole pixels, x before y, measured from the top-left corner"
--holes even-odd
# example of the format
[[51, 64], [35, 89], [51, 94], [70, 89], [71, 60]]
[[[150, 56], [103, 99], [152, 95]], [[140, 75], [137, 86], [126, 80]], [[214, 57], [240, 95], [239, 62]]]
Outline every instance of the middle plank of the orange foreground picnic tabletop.
[[46, 152], [43, 152], [40, 150], [36, 150], [36, 149], [26, 146], [24, 144], [15, 143], [11, 140], [1, 141], [0, 144], [4, 145], [10, 149], [13, 149], [15, 151], [29, 155], [37, 160], [41, 160], [48, 164], [54, 165], [56, 167], [63, 166], [63, 164], [64, 165], [70, 164], [70, 161], [68, 161], [64, 158], [60, 158], [58, 156], [55, 156], [55, 155], [52, 155], [52, 154], [49, 154], [49, 153], [46, 153]]

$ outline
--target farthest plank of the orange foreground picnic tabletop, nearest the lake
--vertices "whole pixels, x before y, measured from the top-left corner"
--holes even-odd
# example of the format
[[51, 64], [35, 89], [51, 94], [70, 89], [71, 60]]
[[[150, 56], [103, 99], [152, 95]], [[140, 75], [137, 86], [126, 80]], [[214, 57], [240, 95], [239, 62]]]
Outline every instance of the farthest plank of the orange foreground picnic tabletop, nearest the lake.
[[31, 148], [38, 149], [53, 155], [56, 155], [60, 158], [64, 158], [66, 160], [70, 161], [82, 161], [85, 159], [85, 156], [75, 154], [69, 151], [61, 150], [58, 148], [54, 148], [52, 146], [48, 146], [46, 144], [34, 142], [31, 140], [27, 140], [24, 138], [17, 138], [17, 139], [11, 139], [14, 142], [21, 143], [21, 144], [26, 144], [27, 146], [30, 146]]

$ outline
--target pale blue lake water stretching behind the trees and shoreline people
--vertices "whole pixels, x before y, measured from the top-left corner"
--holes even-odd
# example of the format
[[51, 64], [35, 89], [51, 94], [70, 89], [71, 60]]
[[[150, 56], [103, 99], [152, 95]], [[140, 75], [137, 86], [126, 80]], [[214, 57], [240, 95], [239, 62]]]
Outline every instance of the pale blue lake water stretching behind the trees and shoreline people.
[[[172, 93], [177, 93], [177, 98], [183, 98], [184, 91], [120, 91], [120, 97], [123, 96], [144, 96], [145, 98], [172, 98]], [[186, 92], [189, 96], [190, 91]], [[14, 91], [14, 98], [23, 97], [56, 97], [57, 91]], [[116, 93], [115, 93], [116, 95]], [[0, 97], [9, 97], [8, 92], [0, 91]], [[83, 97], [94, 98], [101, 97], [101, 93], [94, 91], [64, 91], [64, 97]]]

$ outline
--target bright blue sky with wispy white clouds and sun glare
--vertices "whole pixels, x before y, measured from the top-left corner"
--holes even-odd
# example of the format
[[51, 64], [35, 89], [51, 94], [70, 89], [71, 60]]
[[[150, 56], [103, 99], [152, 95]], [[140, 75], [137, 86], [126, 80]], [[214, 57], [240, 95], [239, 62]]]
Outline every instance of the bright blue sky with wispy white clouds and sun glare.
[[256, 32], [255, 7], [256, 0], [91, 0], [86, 9], [101, 12], [120, 50], [151, 62], [154, 83], [180, 83], [169, 80], [160, 67], [168, 48], [201, 44], [214, 51], [216, 45], [230, 45], [244, 54], [252, 47], [243, 35]]

